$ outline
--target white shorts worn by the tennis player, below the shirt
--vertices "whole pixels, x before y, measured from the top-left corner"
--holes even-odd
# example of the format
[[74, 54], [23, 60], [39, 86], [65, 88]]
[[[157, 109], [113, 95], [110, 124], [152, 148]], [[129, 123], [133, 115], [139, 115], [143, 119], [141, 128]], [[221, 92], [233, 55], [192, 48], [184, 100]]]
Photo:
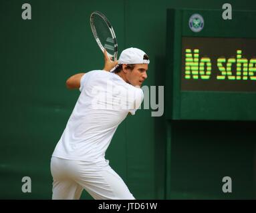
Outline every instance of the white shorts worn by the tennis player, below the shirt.
[[80, 199], [85, 189], [96, 200], [134, 200], [126, 184], [106, 162], [51, 157], [52, 199]]

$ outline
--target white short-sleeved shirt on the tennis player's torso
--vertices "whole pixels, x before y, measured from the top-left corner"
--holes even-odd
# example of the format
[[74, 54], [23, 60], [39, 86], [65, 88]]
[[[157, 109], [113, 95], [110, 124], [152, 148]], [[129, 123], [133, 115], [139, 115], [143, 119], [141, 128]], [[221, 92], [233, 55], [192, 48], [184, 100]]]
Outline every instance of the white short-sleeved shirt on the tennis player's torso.
[[143, 91], [114, 73], [96, 70], [83, 75], [80, 92], [53, 156], [88, 162], [105, 160], [116, 128], [128, 112], [135, 114]]

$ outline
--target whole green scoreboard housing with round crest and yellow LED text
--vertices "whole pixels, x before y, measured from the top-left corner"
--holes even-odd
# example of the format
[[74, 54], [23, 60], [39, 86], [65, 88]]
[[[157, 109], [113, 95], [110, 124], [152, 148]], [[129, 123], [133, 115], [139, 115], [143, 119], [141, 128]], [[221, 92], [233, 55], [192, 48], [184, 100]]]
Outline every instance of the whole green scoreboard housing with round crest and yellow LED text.
[[166, 117], [256, 120], [256, 12], [167, 11]]

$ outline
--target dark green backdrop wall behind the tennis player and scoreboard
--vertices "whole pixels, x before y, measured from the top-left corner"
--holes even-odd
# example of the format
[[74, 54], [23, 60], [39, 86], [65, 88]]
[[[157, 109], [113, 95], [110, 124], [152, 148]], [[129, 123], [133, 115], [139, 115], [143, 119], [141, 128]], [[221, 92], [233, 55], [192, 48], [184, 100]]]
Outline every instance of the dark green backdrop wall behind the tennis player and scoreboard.
[[[31, 20], [21, 19], [23, 3], [31, 4]], [[92, 11], [110, 19], [120, 51], [148, 53], [150, 86], [165, 82], [166, 9], [223, 3], [0, 0], [0, 198], [51, 198], [51, 154], [79, 95], [66, 79], [103, 67]], [[229, 3], [256, 9], [255, 1]], [[106, 158], [137, 199], [255, 198], [255, 122], [170, 121], [138, 110], [118, 127]], [[31, 193], [21, 191], [23, 176], [31, 177]], [[222, 192], [223, 176], [233, 178], [233, 193]], [[82, 198], [91, 199], [86, 192]]]

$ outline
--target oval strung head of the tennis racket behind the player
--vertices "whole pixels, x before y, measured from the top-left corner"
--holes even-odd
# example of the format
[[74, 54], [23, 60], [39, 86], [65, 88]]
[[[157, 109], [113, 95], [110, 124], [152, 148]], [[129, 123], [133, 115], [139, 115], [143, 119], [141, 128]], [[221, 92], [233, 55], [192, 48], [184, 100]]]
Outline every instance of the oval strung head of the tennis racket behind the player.
[[108, 56], [114, 60], [118, 57], [118, 43], [116, 41], [116, 34], [106, 16], [99, 11], [94, 11], [90, 15], [90, 25], [94, 39], [98, 46], [104, 52], [106, 49]]

